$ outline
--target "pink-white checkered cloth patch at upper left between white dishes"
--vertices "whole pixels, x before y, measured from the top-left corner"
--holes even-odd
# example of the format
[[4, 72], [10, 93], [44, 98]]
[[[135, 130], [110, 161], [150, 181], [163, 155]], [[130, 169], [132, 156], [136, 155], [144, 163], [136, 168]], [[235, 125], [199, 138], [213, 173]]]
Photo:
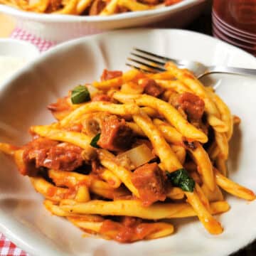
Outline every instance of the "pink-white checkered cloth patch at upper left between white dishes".
[[20, 39], [32, 43], [41, 52], [48, 50], [50, 47], [55, 46], [54, 42], [46, 41], [44, 39], [38, 38], [31, 33], [24, 31], [21, 28], [15, 28], [11, 33], [11, 38]]

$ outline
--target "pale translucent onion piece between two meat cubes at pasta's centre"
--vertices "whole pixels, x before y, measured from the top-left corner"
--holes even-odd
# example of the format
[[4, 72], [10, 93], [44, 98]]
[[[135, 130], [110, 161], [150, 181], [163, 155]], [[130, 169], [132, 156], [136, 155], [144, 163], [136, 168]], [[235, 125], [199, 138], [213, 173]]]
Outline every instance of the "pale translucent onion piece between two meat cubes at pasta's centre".
[[122, 154], [117, 156], [117, 161], [127, 169], [136, 169], [138, 166], [148, 163], [151, 159], [154, 159], [156, 156], [152, 154], [146, 144], [142, 144], [134, 147], [128, 151], [125, 151]]

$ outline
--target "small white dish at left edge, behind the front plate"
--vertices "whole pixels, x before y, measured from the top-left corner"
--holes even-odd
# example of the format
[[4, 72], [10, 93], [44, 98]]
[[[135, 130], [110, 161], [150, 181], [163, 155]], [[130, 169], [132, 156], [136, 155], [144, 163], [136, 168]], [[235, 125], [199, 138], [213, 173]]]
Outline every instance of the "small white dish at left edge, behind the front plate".
[[0, 38], [0, 85], [38, 55], [38, 48], [31, 43]]

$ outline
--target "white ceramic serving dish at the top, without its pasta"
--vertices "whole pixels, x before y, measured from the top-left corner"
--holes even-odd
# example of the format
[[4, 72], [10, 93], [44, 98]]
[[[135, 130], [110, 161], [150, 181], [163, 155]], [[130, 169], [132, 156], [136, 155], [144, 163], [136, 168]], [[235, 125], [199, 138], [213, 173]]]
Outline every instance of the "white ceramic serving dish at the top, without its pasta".
[[73, 16], [36, 14], [0, 4], [0, 11], [14, 16], [17, 26], [49, 41], [67, 41], [116, 28], [156, 25], [166, 21], [168, 27], [182, 27], [198, 16], [206, 0], [183, 0], [178, 4], [149, 11], [136, 11], [112, 16]]

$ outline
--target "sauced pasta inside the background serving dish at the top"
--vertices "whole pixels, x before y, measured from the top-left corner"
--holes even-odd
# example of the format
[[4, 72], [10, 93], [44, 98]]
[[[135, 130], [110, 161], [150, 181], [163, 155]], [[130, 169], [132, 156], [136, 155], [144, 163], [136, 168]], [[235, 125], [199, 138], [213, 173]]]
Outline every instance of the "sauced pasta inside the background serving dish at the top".
[[45, 14], [109, 16], [128, 11], [146, 11], [171, 6], [182, 0], [0, 0], [0, 4]]

